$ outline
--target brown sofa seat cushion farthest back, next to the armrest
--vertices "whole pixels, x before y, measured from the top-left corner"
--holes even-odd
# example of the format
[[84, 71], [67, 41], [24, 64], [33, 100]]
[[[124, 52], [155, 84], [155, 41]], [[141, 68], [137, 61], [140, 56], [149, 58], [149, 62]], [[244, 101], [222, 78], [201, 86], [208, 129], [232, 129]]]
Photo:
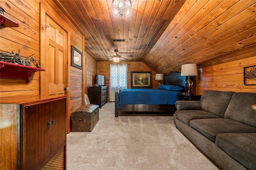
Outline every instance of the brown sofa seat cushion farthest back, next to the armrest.
[[189, 121], [194, 119], [221, 118], [217, 115], [203, 110], [178, 110], [175, 112], [176, 118], [189, 126]]

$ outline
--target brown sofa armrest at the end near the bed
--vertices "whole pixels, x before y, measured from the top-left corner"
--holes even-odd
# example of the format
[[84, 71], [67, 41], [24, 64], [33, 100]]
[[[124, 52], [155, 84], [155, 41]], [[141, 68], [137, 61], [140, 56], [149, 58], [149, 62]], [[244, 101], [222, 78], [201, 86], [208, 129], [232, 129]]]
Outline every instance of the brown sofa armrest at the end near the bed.
[[178, 100], [175, 103], [177, 110], [202, 110], [201, 101]]

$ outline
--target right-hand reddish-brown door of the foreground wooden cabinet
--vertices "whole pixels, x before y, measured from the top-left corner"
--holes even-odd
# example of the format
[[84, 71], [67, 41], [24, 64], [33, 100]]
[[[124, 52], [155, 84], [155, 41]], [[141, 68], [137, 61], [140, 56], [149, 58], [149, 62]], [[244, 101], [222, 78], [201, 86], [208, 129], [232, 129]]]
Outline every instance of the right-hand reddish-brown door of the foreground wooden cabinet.
[[66, 100], [51, 103], [51, 154], [66, 142]]

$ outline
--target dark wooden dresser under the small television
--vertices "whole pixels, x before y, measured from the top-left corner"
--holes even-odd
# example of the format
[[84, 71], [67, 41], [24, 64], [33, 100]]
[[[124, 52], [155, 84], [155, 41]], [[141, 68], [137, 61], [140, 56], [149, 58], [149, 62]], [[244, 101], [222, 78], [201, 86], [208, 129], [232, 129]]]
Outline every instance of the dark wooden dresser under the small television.
[[89, 100], [91, 104], [99, 105], [101, 108], [108, 102], [108, 86], [89, 87]]

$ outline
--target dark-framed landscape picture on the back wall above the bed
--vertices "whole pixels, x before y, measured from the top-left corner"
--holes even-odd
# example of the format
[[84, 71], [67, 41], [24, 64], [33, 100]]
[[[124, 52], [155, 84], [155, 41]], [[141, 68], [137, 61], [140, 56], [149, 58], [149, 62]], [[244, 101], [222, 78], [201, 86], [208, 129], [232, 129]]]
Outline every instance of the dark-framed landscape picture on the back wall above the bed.
[[152, 88], [152, 72], [131, 72], [131, 88]]

